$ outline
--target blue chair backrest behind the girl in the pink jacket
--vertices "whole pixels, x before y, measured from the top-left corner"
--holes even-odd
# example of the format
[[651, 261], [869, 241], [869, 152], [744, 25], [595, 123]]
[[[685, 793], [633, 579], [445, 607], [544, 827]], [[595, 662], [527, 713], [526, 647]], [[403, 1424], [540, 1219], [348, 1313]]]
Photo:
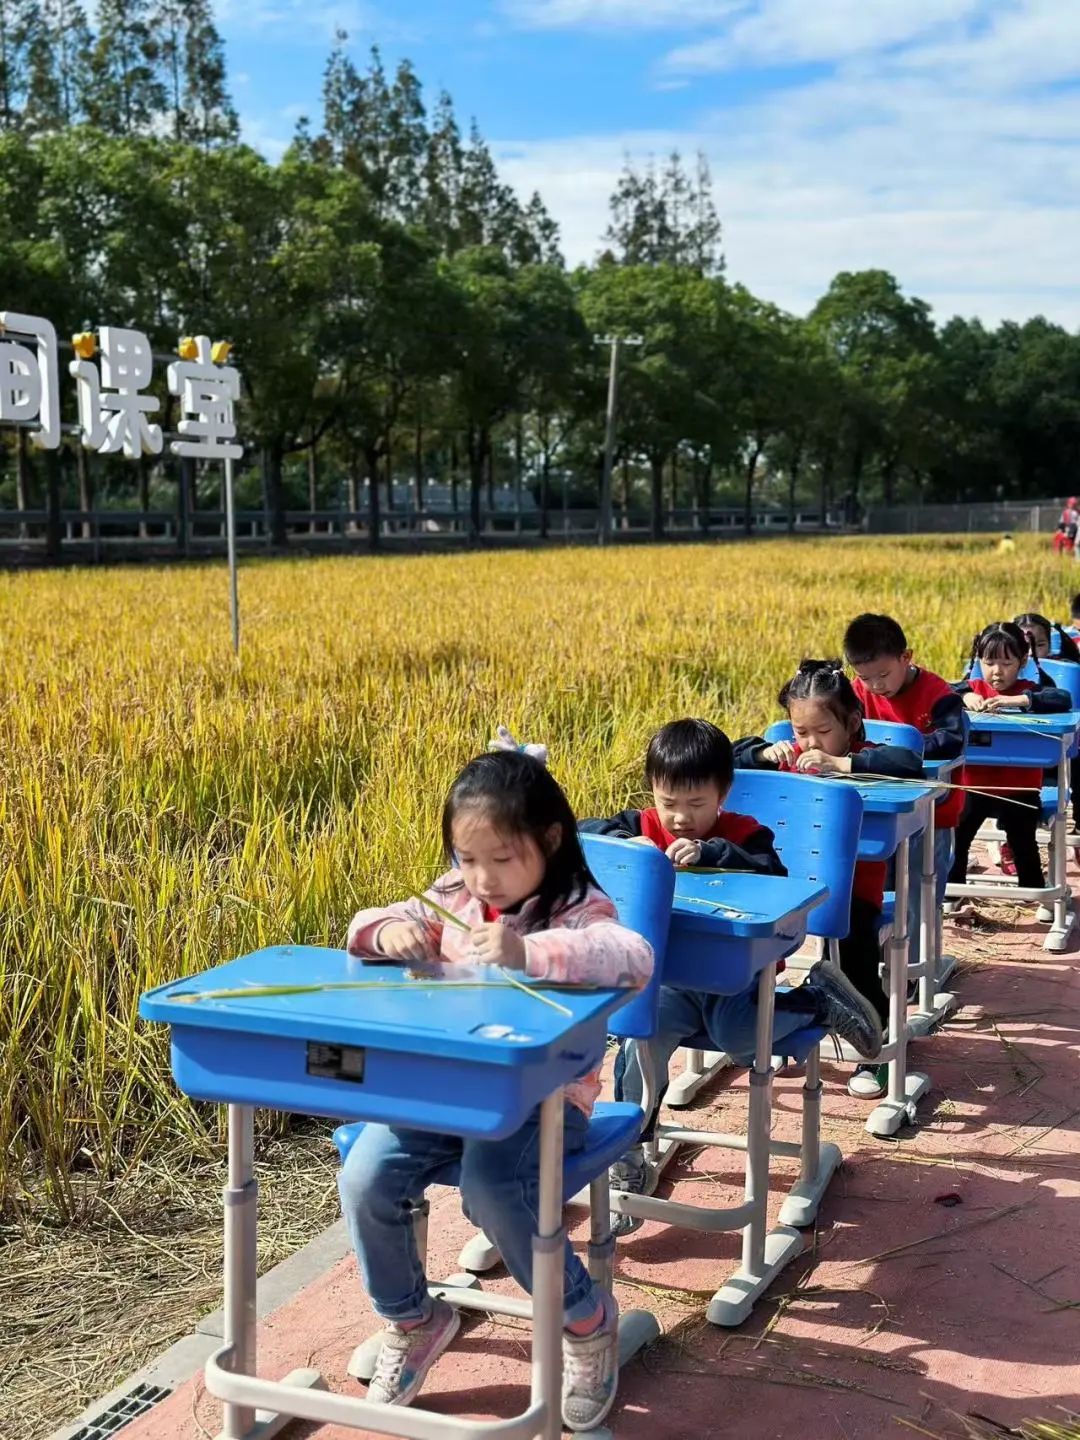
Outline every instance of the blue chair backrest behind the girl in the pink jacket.
[[612, 1035], [647, 1040], [657, 1032], [675, 867], [655, 845], [639, 845], [611, 835], [582, 835], [582, 847], [596, 883], [619, 912], [619, 923], [628, 930], [636, 930], [652, 946], [652, 978], [609, 1021]]

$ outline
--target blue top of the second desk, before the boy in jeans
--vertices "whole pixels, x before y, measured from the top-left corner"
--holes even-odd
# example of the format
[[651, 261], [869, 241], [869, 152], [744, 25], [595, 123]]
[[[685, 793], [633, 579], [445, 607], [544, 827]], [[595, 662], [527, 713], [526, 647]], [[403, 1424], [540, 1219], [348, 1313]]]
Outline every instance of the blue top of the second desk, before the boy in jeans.
[[707, 929], [724, 939], [752, 940], [789, 930], [827, 894], [825, 886], [789, 876], [696, 876], [677, 870], [671, 919], [681, 930]]

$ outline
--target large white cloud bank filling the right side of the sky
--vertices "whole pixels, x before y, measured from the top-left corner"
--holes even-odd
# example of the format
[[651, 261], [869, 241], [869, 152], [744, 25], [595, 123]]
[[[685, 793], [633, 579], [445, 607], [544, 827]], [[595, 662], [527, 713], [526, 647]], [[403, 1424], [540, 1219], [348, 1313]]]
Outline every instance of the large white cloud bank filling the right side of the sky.
[[[732, 66], [814, 60], [825, 78], [727, 99]], [[700, 148], [729, 275], [766, 300], [805, 312], [838, 271], [881, 266], [939, 318], [1080, 327], [1080, 86], [1054, 84], [1080, 81], [1080, 4], [756, 0], [652, 79], [688, 75], [704, 107], [685, 130], [507, 147], [507, 174], [540, 189], [572, 262], [600, 249], [626, 154]]]

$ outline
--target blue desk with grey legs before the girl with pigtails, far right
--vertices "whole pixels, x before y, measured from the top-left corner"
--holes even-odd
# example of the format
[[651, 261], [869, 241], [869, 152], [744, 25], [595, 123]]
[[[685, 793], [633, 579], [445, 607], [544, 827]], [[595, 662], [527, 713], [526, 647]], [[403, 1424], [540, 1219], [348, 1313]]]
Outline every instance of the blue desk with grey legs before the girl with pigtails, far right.
[[[981, 714], [969, 711], [971, 737], [968, 762], [986, 766], [1038, 766], [1057, 769], [1057, 809], [1050, 824], [1050, 883], [1043, 890], [1020, 888], [1004, 881], [968, 881], [950, 884], [948, 896], [1007, 900], [1037, 900], [1040, 919], [1050, 920], [1043, 948], [1060, 953], [1068, 946], [1074, 914], [1068, 907], [1071, 891], [1066, 876], [1066, 834], [1068, 804], [1068, 755], [1080, 732], [1080, 711], [1054, 716]], [[1053, 904], [1053, 910], [1050, 906]]]

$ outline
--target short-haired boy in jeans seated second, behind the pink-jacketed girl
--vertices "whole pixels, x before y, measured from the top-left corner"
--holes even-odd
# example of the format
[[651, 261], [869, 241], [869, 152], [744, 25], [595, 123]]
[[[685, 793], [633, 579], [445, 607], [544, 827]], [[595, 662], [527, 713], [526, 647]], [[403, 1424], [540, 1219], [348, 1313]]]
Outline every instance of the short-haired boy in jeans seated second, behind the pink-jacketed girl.
[[[749, 815], [723, 808], [734, 778], [734, 755], [732, 742], [708, 720], [675, 720], [658, 730], [645, 755], [645, 778], [652, 789], [651, 809], [586, 819], [579, 828], [657, 845], [678, 868], [707, 865], [763, 876], [788, 873], [773, 848], [772, 831]], [[645, 1117], [641, 1140], [652, 1136], [667, 1090], [668, 1064], [680, 1045], [704, 1037], [704, 1048], [749, 1063], [756, 1025], [756, 985], [740, 995], [662, 986], [657, 1035], [649, 1041], [624, 1041], [615, 1063], [615, 1099], [641, 1104], [645, 1087], [638, 1047], [645, 1044], [648, 1048], [657, 1099], [652, 1113]], [[782, 1051], [783, 1038], [806, 1025], [824, 1025], [868, 1060], [881, 1051], [881, 1022], [874, 1008], [828, 960], [819, 960], [798, 989], [776, 992], [776, 1048]], [[641, 1142], [612, 1166], [611, 1184], [613, 1189], [645, 1192], [648, 1172]], [[615, 1234], [629, 1234], [638, 1225], [641, 1220], [635, 1217], [612, 1215]]]

